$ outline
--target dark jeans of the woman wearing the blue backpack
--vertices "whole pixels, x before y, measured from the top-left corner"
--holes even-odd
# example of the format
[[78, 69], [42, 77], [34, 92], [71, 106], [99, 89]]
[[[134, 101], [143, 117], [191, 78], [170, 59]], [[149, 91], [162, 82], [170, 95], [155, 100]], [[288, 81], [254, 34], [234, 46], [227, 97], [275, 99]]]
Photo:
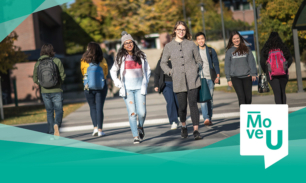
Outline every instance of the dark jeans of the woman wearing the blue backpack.
[[90, 117], [94, 127], [102, 129], [104, 113], [103, 106], [107, 94], [107, 84], [102, 90], [84, 90], [90, 108]]

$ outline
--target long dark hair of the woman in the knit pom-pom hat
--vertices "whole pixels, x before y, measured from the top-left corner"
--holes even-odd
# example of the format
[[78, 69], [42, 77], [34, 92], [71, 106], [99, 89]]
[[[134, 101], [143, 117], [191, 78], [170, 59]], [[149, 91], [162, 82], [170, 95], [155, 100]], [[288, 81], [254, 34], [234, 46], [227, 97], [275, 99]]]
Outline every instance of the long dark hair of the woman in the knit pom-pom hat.
[[[143, 51], [141, 51], [137, 45], [137, 43], [135, 41], [133, 41], [133, 45], [134, 45], [134, 48], [133, 48], [133, 55], [132, 55], [132, 58], [133, 58], [133, 61], [135, 62], [135, 66], [137, 65], [137, 63], [139, 65], [141, 65], [141, 59], [144, 59], [146, 58], [145, 54]], [[115, 58], [115, 63], [119, 65], [119, 68], [121, 67], [121, 63], [122, 63], [122, 58], [125, 57], [129, 54], [126, 49], [123, 48], [124, 45], [122, 45], [119, 49], [118, 49], [118, 52], [117, 52], [117, 56]]]

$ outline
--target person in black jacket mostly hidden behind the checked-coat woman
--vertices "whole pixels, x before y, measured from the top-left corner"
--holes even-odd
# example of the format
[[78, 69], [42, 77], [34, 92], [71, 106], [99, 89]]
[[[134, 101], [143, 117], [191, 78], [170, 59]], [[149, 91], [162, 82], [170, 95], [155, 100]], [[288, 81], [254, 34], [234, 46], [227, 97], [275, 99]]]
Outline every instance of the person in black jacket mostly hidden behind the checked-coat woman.
[[[172, 78], [166, 74], [160, 68], [160, 60], [162, 59], [162, 54], [160, 55], [159, 61], [157, 62], [155, 68], [155, 75], [154, 75], [154, 90], [162, 93], [164, 95], [166, 102], [167, 102], [167, 115], [169, 118], [169, 122], [171, 125], [171, 130], [177, 129], [179, 124], [177, 117], [178, 117], [178, 101], [176, 93], [173, 92], [173, 82]], [[171, 62], [168, 62], [168, 66], [171, 69]]]

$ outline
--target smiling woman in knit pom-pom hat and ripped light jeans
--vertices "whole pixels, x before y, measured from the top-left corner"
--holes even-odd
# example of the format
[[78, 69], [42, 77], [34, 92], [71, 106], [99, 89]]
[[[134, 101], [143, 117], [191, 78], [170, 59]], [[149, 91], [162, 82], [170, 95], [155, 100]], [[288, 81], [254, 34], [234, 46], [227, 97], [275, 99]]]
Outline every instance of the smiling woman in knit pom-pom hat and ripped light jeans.
[[[119, 95], [123, 97], [126, 104], [134, 144], [139, 144], [139, 138], [145, 138], [143, 125], [147, 114], [146, 95], [151, 68], [147, 56], [139, 49], [132, 36], [126, 31], [122, 31], [121, 35], [121, 47], [118, 49], [114, 65], [110, 69], [110, 76], [114, 85], [120, 88]], [[119, 69], [121, 80], [117, 77]]]

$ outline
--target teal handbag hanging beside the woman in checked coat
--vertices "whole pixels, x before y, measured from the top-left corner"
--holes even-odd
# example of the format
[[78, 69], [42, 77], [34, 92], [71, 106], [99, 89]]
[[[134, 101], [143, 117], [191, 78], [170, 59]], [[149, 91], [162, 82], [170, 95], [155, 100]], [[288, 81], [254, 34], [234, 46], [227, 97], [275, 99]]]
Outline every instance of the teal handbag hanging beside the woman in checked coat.
[[203, 78], [201, 78], [201, 88], [199, 90], [198, 93], [198, 98], [197, 98], [197, 102], [198, 103], [205, 103], [208, 102], [212, 99], [211, 94], [210, 94], [210, 90], [208, 88], [207, 85], [207, 81], [206, 78], [204, 78], [204, 74], [203, 74], [203, 70], [202, 70], [202, 66], [200, 64], [199, 65], [199, 74], [200, 74], [200, 78], [201, 78], [201, 71], [202, 71], [202, 76]]

